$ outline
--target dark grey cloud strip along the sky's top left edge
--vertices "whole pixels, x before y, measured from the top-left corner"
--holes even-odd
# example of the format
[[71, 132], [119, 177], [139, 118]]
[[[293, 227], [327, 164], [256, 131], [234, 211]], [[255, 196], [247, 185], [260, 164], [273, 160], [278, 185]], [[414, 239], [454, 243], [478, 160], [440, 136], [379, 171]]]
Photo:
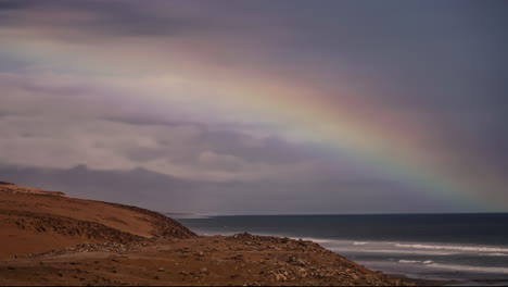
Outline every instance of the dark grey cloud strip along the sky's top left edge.
[[[149, 10], [150, 5], [140, 5], [134, 1], [96, 1], [86, 0], [77, 2], [68, 1], [7, 1], [4, 10], [10, 12], [0, 22], [11, 26], [45, 26], [65, 27], [72, 34], [72, 29], [79, 33], [88, 33], [94, 36], [178, 36], [193, 30], [206, 29], [206, 25], [198, 20], [181, 17], [173, 11], [172, 7], [163, 11]], [[178, 3], [176, 3], [178, 8]], [[56, 17], [21, 18], [22, 14], [30, 13], [58, 13]], [[80, 18], [80, 13], [89, 18]], [[8, 17], [9, 16], [9, 17]]]

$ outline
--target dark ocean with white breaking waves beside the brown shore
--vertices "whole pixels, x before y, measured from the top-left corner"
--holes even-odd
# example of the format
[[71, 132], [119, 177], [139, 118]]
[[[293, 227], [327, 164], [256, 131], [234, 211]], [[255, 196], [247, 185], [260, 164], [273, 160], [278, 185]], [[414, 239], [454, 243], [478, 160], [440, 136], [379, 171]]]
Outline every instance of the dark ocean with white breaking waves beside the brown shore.
[[200, 235], [314, 240], [370, 270], [468, 285], [508, 284], [508, 213], [234, 215], [176, 219]]

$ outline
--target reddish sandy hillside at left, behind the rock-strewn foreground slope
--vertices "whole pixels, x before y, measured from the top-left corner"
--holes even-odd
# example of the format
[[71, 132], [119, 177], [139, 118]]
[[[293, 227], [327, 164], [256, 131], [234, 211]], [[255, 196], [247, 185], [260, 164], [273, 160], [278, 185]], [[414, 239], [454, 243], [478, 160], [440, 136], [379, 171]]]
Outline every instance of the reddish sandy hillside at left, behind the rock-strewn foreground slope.
[[79, 244], [192, 236], [179, 223], [148, 210], [0, 184], [0, 259]]

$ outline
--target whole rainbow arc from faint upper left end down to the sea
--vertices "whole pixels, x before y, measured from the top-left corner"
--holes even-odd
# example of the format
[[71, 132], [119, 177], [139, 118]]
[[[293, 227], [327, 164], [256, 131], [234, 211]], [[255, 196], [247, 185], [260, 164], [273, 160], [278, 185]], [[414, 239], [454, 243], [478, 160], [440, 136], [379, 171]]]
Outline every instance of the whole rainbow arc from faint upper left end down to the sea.
[[[86, 70], [87, 75], [90, 71], [101, 75], [114, 66], [111, 62], [93, 61], [93, 57], [90, 55], [64, 54], [62, 49], [54, 52], [54, 45], [43, 40], [39, 45], [31, 43], [30, 46], [13, 45], [9, 53], [23, 59], [27, 58], [35, 63], [48, 61], [52, 64], [58, 63], [58, 66], [66, 66], [71, 70], [84, 64], [82, 68]], [[101, 59], [104, 58], [106, 57], [101, 57]], [[117, 60], [113, 58], [111, 61]], [[232, 78], [207, 82], [208, 88], [221, 98], [213, 101], [206, 97], [195, 99], [195, 101], [207, 103], [205, 116], [220, 118], [221, 114], [234, 111], [234, 115], [244, 122], [263, 118], [272, 123], [274, 126], [278, 123], [289, 124], [291, 129], [302, 132], [301, 137], [315, 142], [313, 146], [316, 149], [336, 155], [347, 153], [357, 162], [378, 173], [396, 178], [408, 187], [429, 192], [437, 200], [447, 201], [470, 211], [506, 210], [506, 203], [498, 195], [500, 192], [496, 191], [503, 188], [501, 180], [491, 177], [487, 180], [478, 182], [470, 178], [470, 172], [466, 167], [450, 169], [440, 164], [436, 159], [439, 155], [433, 154], [432, 149], [422, 147], [411, 139], [411, 128], [416, 126], [418, 130], [418, 125], [415, 123], [401, 121], [396, 124], [396, 128], [378, 124], [376, 122], [378, 114], [366, 116], [361, 113], [361, 103], [347, 103], [347, 101], [355, 101], [354, 95], [343, 96], [345, 103], [336, 105], [330, 104], [329, 100], [315, 95], [310, 89], [280, 87], [269, 80], [254, 83], [247, 79], [241, 84], [234, 84], [236, 82]], [[98, 83], [98, 85], [105, 85], [105, 80]], [[160, 83], [153, 91], [150, 91], [150, 87], [140, 87], [139, 93], [143, 95], [139, 96], [140, 101], [145, 99], [147, 93], [151, 93], [154, 98], [153, 102], [170, 109], [177, 96], [164, 92], [164, 85]], [[190, 100], [185, 104], [191, 107], [194, 103]], [[147, 104], [145, 108], [150, 109], [150, 105]], [[358, 116], [358, 114], [364, 114], [364, 116]], [[484, 174], [488, 173], [484, 172]], [[488, 196], [485, 196], [485, 192], [488, 192]]]

